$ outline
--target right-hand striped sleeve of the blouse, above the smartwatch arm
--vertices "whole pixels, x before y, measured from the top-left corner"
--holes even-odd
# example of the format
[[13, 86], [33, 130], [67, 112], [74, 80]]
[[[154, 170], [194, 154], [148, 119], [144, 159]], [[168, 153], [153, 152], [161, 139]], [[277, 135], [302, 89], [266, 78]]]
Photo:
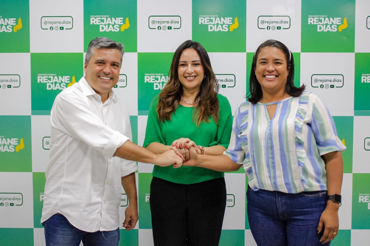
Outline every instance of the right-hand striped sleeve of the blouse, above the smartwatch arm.
[[333, 151], [345, 150], [346, 147], [337, 136], [334, 120], [329, 110], [316, 95], [311, 95], [314, 96], [314, 99], [310, 124], [320, 156]]

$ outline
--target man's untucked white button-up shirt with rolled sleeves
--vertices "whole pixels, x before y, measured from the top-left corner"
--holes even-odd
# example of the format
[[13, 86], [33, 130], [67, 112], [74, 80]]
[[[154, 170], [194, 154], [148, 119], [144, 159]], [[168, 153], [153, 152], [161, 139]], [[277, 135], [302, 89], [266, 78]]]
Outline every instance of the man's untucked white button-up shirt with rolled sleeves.
[[41, 223], [61, 213], [80, 230], [117, 229], [121, 177], [137, 170], [134, 161], [112, 157], [131, 138], [127, 108], [112, 90], [102, 103], [81, 78], [57, 95], [50, 117]]

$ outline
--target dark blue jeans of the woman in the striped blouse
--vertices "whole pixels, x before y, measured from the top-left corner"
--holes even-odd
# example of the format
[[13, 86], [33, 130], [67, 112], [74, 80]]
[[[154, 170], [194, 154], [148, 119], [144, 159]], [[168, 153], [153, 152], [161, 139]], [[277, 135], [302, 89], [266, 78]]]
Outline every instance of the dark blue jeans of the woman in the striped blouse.
[[323, 246], [319, 241], [324, 229], [317, 234], [317, 226], [326, 208], [326, 191], [287, 194], [253, 191], [248, 186], [247, 201], [250, 231], [257, 245]]

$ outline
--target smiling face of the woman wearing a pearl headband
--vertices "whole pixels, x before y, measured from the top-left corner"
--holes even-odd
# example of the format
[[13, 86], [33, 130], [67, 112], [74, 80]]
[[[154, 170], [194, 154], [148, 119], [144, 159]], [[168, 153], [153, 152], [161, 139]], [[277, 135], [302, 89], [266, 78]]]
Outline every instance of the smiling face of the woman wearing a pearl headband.
[[262, 48], [257, 56], [255, 75], [263, 93], [285, 90], [289, 69], [284, 52], [276, 47]]

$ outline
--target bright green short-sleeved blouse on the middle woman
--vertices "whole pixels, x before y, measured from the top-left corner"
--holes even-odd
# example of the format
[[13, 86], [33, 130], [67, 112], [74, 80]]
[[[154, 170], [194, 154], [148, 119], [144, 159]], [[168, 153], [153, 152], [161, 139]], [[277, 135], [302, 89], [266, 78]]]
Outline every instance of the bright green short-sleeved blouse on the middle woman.
[[[156, 107], [159, 101], [159, 94], [151, 102], [147, 130], [143, 146], [146, 147], [153, 142], [164, 145], [171, 145], [172, 142], [181, 137], [189, 138], [195, 144], [203, 147], [222, 145], [227, 148], [230, 141], [232, 129], [231, 106], [225, 96], [218, 94], [220, 105], [219, 124], [216, 124], [212, 117], [209, 122], [201, 122], [199, 127], [193, 122], [194, 107], [184, 107], [179, 105], [175, 113], [171, 115], [171, 121], [159, 122]], [[214, 178], [224, 176], [223, 172], [217, 172], [202, 167], [185, 167], [173, 168], [154, 166], [153, 176], [170, 182], [179, 184], [195, 184]]]

